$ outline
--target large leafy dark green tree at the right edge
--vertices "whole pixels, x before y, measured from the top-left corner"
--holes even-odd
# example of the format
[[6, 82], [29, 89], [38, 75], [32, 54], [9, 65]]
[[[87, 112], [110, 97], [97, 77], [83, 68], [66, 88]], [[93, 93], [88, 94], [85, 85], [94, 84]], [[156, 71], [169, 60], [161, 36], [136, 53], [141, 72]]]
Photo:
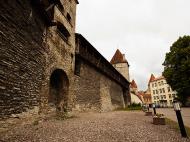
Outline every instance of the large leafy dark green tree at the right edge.
[[180, 37], [166, 53], [163, 76], [185, 105], [190, 96], [190, 36]]

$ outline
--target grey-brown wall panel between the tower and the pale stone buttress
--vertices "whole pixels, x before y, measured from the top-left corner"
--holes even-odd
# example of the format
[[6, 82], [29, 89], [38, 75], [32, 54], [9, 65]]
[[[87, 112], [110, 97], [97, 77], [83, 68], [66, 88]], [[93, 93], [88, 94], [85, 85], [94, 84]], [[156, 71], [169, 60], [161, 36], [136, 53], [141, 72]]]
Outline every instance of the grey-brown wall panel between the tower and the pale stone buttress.
[[81, 63], [79, 88], [76, 93], [76, 106], [79, 110], [100, 110], [100, 77], [92, 67]]

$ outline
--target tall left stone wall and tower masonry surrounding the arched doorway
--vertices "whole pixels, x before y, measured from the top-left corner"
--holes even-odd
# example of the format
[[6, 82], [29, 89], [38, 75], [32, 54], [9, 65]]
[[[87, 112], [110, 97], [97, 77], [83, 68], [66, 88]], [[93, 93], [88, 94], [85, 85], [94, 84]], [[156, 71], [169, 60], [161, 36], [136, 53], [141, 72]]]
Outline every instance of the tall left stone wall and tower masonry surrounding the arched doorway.
[[[76, 1], [61, 0], [64, 11], [56, 5], [49, 13], [44, 13], [46, 5], [40, 2], [0, 1], [0, 118], [46, 108], [50, 77], [56, 69], [69, 80], [64, 105], [73, 106]], [[51, 20], [64, 25], [67, 41]]]

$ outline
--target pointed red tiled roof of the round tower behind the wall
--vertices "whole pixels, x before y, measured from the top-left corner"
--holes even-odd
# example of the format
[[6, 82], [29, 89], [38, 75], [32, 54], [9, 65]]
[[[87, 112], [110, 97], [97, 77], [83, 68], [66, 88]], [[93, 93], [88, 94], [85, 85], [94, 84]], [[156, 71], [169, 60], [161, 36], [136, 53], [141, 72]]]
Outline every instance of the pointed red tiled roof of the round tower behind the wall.
[[117, 63], [128, 63], [125, 59], [125, 54], [122, 54], [119, 49], [116, 50], [114, 56], [112, 57], [111, 64], [117, 64]]

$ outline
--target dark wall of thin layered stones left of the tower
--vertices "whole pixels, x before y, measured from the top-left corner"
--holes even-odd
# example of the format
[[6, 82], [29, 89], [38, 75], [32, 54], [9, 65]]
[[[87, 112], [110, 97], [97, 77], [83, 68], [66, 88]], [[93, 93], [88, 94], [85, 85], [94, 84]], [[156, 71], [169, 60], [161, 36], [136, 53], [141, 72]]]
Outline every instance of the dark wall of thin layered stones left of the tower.
[[45, 75], [44, 23], [29, 1], [0, 2], [0, 117], [39, 105]]

